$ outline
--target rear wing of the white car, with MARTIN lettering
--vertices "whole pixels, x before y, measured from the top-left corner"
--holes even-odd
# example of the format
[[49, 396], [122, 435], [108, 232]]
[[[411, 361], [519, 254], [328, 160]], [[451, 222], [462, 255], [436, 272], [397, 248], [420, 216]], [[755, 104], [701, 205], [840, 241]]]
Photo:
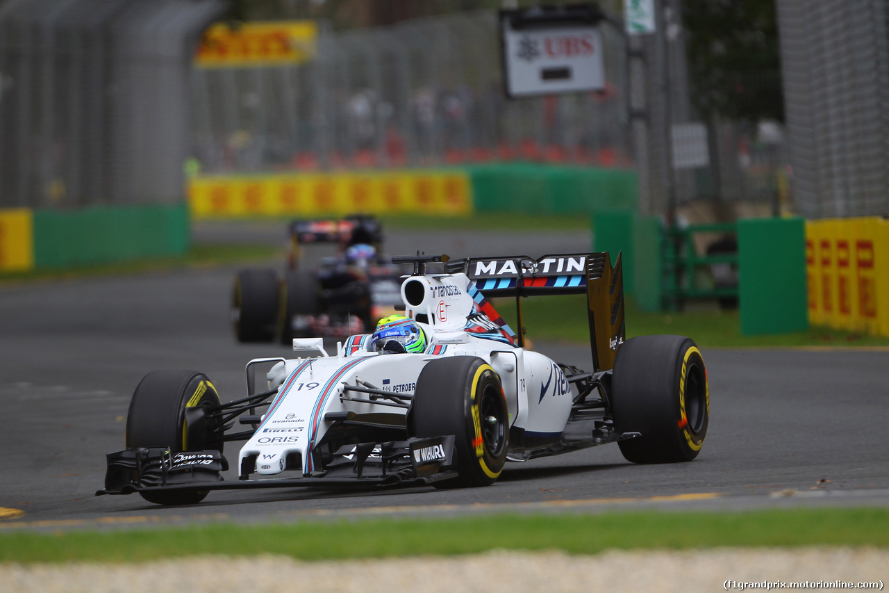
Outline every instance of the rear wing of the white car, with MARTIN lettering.
[[587, 295], [589, 345], [596, 370], [614, 368], [617, 349], [626, 339], [623, 265], [605, 251], [528, 256], [467, 257], [445, 263], [445, 272], [463, 272], [482, 294], [515, 296], [519, 345], [524, 345], [522, 296]]

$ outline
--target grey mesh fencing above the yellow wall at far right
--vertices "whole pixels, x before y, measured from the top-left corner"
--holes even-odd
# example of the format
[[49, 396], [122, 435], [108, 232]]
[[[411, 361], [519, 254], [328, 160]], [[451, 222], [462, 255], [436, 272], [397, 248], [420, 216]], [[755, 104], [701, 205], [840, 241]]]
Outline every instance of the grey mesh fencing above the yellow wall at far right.
[[777, 4], [797, 211], [889, 215], [889, 1]]

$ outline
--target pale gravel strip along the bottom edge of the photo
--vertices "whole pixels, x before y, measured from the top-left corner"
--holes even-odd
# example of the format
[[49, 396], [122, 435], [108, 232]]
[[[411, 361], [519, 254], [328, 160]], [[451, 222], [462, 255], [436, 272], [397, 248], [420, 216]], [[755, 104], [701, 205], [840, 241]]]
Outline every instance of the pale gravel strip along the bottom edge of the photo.
[[[595, 556], [493, 550], [434, 556], [304, 562], [285, 556], [196, 556], [144, 564], [0, 565], [0, 591], [104, 593], [560, 593], [682, 592], [765, 589], [764, 581], [885, 583], [889, 549], [716, 548], [697, 551], [607, 551]], [[726, 583], [726, 581], [735, 581]], [[821, 586], [814, 583], [821, 582]], [[830, 586], [826, 586], [830, 583]], [[813, 587], [814, 585], [814, 587]], [[773, 585], [780, 589], [781, 585]], [[877, 585], [877, 589], [882, 589]]]

